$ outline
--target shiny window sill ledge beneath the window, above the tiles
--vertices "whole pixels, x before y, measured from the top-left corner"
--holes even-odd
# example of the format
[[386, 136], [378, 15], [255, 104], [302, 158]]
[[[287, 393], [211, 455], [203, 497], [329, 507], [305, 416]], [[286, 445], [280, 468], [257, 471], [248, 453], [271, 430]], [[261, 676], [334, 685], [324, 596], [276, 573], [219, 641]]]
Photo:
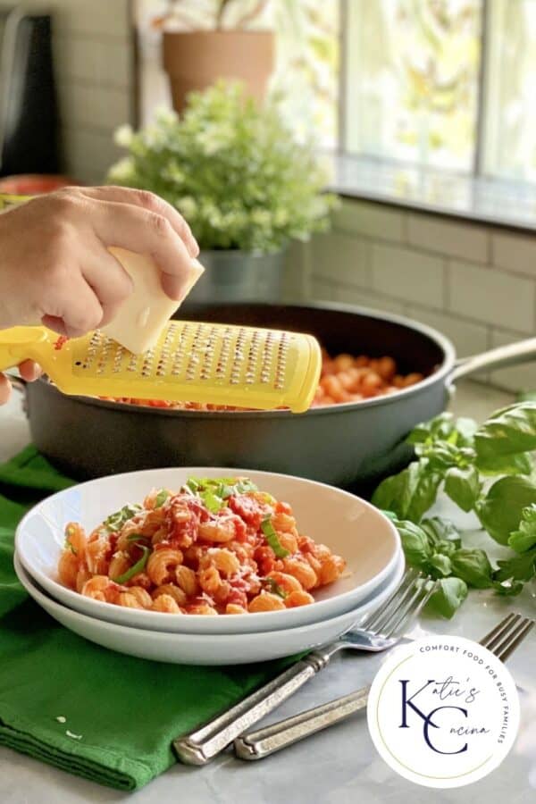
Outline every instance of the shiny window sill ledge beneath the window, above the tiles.
[[508, 230], [536, 230], [536, 187], [476, 179], [454, 172], [349, 155], [330, 155], [329, 188], [420, 212], [488, 223]]

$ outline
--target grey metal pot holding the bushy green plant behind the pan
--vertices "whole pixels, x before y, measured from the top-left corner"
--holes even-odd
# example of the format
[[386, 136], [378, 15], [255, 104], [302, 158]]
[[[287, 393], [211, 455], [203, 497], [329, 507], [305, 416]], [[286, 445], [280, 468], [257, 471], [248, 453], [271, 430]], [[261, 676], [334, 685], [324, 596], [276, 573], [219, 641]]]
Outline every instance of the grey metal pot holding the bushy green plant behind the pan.
[[245, 301], [281, 301], [286, 249], [273, 254], [250, 251], [202, 251], [205, 273], [184, 303], [227, 304]]

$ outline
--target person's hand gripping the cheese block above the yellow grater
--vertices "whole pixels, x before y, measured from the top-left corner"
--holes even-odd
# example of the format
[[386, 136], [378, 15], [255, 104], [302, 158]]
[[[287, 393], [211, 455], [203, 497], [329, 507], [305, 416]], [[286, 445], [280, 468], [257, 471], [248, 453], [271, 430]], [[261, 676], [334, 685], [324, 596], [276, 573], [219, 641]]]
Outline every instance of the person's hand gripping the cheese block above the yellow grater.
[[[78, 337], [110, 322], [132, 283], [109, 246], [150, 254], [177, 301], [199, 253], [177, 210], [144, 190], [65, 188], [0, 214], [0, 329], [43, 323]], [[21, 366], [25, 379], [36, 371]], [[0, 375], [0, 403], [8, 396]]]

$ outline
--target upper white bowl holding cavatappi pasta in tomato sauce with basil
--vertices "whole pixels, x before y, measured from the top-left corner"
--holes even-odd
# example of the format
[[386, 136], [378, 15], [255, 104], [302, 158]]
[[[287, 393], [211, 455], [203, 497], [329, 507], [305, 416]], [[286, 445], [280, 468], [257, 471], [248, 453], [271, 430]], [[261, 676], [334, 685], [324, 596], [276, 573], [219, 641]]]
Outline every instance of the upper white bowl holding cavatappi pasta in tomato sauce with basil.
[[252, 633], [356, 608], [392, 574], [398, 532], [348, 492], [225, 468], [117, 474], [21, 521], [21, 564], [87, 616], [150, 631]]

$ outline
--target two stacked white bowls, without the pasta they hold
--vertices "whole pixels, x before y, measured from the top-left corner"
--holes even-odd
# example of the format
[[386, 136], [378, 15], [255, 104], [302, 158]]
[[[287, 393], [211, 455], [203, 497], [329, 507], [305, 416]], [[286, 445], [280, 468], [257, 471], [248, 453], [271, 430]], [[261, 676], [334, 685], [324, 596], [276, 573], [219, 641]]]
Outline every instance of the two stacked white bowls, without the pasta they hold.
[[[153, 488], [179, 490], [192, 475], [237, 474], [289, 502], [300, 532], [346, 559], [343, 577], [315, 592], [314, 604], [248, 615], [172, 615], [103, 603], [58, 581], [67, 523], [81, 523], [90, 532]], [[238, 665], [289, 656], [336, 639], [389, 598], [404, 573], [404, 557], [389, 519], [348, 492], [283, 474], [181, 467], [117, 474], [46, 498], [19, 525], [15, 570], [49, 615], [105, 648], [177, 664]]]

